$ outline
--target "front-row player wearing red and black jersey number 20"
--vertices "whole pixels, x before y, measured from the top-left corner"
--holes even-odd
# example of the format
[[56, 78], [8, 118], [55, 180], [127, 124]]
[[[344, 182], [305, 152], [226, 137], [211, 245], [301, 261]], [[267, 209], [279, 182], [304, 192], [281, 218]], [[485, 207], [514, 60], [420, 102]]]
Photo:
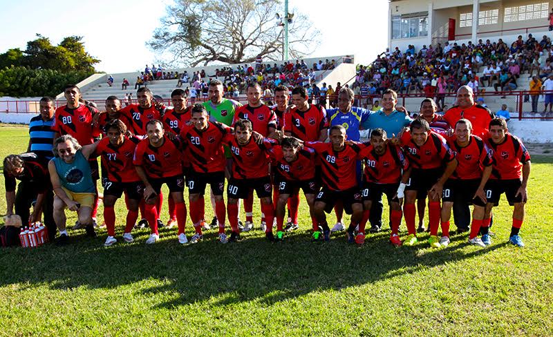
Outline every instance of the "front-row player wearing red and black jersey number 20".
[[203, 200], [200, 196], [205, 193], [205, 186], [209, 184], [215, 195], [215, 214], [219, 230], [218, 239], [227, 243], [225, 235], [226, 207], [223, 200], [225, 189], [225, 153], [222, 139], [232, 128], [218, 122], [210, 122], [205, 106], [194, 104], [192, 107], [192, 124], [180, 131], [180, 138], [190, 153], [191, 169], [187, 179], [190, 202], [190, 218], [196, 234], [190, 239], [191, 243], [203, 240], [201, 215], [204, 212]]

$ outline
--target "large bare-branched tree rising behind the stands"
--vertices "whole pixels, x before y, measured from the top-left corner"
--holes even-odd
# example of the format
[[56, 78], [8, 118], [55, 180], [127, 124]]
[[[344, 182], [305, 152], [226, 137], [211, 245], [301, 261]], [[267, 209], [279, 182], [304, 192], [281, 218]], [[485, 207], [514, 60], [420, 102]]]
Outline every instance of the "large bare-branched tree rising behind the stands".
[[[278, 0], [175, 0], [148, 45], [172, 65], [247, 63], [257, 55], [281, 59], [283, 28], [275, 15], [282, 9]], [[290, 57], [309, 55], [318, 35], [305, 15], [294, 13]]]

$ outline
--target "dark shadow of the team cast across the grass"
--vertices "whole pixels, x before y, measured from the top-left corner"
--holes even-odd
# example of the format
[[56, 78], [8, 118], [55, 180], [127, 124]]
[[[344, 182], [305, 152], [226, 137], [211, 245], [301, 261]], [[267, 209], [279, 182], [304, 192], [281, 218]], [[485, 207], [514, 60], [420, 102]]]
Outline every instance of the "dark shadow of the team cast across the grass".
[[[477, 258], [503, 247], [462, 249], [466, 235], [452, 236], [453, 244], [430, 249], [427, 235], [415, 247], [388, 244], [389, 233], [368, 235], [364, 247], [346, 244], [344, 233], [329, 243], [312, 243], [307, 232], [296, 231], [285, 242], [266, 242], [259, 231], [247, 233], [236, 244], [219, 244], [209, 231], [198, 244], [181, 246], [174, 230], [162, 231], [162, 240], [147, 247], [147, 231], [135, 233], [133, 244], [102, 247], [105, 235], [72, 237], [66, 247], [50, 244], [39, 249], [2, 249], [0, 286], [26, 283], [52, 289], [75, 287], [112, 289], [135, 285], [145, 294], [173, 294], [156, 307], [178, 307], [198, 301], [214, 305], [259, 300], [268, 304], [312, 291], [342, 289], [413, 273], [446, 262]], [[9, 267], [9, 268], [8, 268]], [[159, 286], [144, 288], [142, 281]], [[151, 282], [146, 282], [151, 285]]]

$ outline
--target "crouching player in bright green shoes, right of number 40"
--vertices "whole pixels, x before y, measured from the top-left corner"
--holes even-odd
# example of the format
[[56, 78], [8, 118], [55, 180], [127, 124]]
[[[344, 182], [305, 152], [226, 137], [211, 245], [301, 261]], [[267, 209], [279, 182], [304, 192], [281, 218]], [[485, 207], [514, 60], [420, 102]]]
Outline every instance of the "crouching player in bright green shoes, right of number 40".
[[[278, 229], [283, 227], [284, 206], [287, 201], [290, 202], [291, 195], [298, 195], [299, 189], [306, 195], [313, 231], [319, 231], [313, 208], [319, 186], [315, 178], [315, 151], [312, 148], [302, 148], [297, 138], [285, 137], [280, 146], [270, 148], [269, 155], [274, 160], [274, 168], [279, 175], [279, 194], [275, 208], [277, 239], [283, 238], [283, 233]], [[297, 226], [297, 223], [294, 225]]]

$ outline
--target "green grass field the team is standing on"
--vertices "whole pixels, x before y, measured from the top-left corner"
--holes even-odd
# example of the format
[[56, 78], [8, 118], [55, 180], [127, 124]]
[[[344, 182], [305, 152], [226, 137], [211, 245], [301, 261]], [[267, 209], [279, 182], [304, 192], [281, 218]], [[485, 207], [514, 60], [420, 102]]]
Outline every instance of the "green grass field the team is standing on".
[[[27, 141], [26, 128], [0, 127], [0, 157]], [[176, 229], [163, 229], [153, 246], [144, 244], [146, 229], [124, 244], [119, 222], [119, 242], [109, 248], [100, 229], [95, 239], [70, 231], [66, 247], [0, 249], [0, 335], [550, 336], [552, 172], [553, 157], [532, 158], [524, 249], [507, 244], [512, 209], [504, 200], [486, 249], [469, 246], [466, 235], [429, 249], [427, 234], [396, 249], [386, 231], [360, 248], [344, 233], [312, 244], [304, 200], [301, 230], [282, 244], [265, 242], [259, 225], [238, 244], [218, 244], [209, 231], [182, 247]]]

